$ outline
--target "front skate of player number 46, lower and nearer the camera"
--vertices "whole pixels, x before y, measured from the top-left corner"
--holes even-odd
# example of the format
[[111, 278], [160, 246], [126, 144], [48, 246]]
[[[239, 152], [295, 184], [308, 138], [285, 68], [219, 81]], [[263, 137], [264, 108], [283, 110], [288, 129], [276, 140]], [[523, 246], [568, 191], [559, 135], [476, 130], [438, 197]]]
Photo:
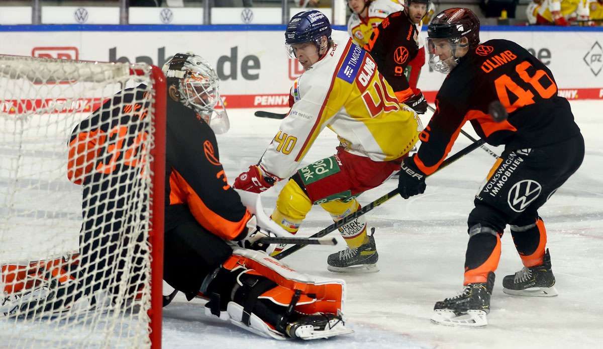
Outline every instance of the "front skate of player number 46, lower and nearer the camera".
[[431, 321], [448, 326], [487, 325], [493, 287], [494, 273], [490, 272], [487, 283], [468, 284], [459, 295], [435, 303]]

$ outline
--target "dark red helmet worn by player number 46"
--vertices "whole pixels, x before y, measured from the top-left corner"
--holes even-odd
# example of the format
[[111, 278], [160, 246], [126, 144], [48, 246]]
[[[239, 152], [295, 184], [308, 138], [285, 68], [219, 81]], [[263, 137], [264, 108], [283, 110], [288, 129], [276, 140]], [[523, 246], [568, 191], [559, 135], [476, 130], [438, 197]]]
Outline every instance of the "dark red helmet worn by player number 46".
[[476, 47], [479, 45], [479, 19], [469, 8], [449, 8], [434, 17], [427, 34], [430, 39], [450, 39], [454, 43], [466, 37], [469, 46]]

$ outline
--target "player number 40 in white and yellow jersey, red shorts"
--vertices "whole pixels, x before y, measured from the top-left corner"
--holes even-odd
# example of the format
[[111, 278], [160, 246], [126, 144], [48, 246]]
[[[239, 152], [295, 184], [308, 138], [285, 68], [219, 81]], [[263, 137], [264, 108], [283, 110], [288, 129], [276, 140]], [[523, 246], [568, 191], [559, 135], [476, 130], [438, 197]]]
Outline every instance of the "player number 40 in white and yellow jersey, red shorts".
[[[356, 196], [382, 184], [422, 130], [414, 110], [400, 104], [370, 55], [344, 33], [333, 33], [320, 11], [298, 13], [285, 42], [306, 71], [291, 89], [292, 106], [270, 146], [236, 179], [235, 188], [260, 193], [289, 178], [271, 218], [295, 233], [313, 204], [333, 220], [360, 208]], [[336, 154], [297, 170], [318, 134], [336, 133]], [[339, 229], [348, 248], [329, 255], [330, 271], [377, 271], [374, 237], [364, 216]]]

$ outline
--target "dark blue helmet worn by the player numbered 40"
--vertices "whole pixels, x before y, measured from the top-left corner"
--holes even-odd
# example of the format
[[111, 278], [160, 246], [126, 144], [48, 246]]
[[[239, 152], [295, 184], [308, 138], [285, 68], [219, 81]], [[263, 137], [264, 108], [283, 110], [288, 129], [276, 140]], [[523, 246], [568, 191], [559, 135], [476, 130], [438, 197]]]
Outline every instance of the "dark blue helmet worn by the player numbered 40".
[[295, 43], [314, 42], [320, 50], [320, 39], [326, 36], [331, 38], [331, 24], [321, 11], [310, 10], [295, 14], [289, 21], [285, 30], [285, 44], [289, 50]]

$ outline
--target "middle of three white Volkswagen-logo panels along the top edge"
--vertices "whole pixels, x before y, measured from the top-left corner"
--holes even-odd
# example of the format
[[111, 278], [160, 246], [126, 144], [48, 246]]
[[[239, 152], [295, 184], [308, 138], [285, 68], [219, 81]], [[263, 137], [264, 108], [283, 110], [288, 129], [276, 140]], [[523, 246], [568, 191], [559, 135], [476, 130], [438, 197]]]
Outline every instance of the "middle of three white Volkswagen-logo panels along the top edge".
[[130, 24], [203, 24], [202, 7], [130, 7]]

